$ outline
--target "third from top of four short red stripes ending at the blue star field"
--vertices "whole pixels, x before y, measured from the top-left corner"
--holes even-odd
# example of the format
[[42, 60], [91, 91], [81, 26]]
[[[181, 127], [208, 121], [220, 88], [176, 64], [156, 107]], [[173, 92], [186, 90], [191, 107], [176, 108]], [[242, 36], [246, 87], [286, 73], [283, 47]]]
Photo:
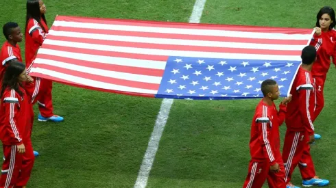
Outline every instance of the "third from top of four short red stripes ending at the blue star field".
[[44, 68], [47, 70], [53, 70], [55, 72], [60, 72], [63, 74], [67, 75], [72, 75], [75, 77], [82, 77], [85, 79], [91, 79], [93, 81], [101, 81], [105, 83], [111, 83], [115, 85], [121, 85], [121, 86], [127, 86], [131, 88], [140, 88], [140, 89], [145, 89], [145, 90], [158, 90], [160, 87], [160, 84], [155, 84], [155, 83], [144, 83], [141, 81], [129, 81], [125, 79], [116, 79], [116, 78], [111, 78], [111, 77], [104, 77], [100, 75], [93, 75], [89, 74], [86, 72], [80, 72], [76, 70], [69, 70], [67, 68], [60, 68], [58, 66], [50, 66], [46, 64], [38, 64], [38, 68]]

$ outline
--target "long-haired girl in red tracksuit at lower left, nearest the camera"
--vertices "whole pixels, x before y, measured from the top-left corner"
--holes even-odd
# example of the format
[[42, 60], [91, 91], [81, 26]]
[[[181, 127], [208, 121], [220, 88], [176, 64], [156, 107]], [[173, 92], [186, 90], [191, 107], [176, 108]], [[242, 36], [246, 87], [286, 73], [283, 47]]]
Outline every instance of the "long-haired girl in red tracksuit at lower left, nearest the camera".
[[[5, 70], [1, 85], [0, 105], [0, 139], [3, 144], [3, 161], [0, 188], [23, 187], [19, 185], [22, 180], [29, 180], [34, 153], [30, 134], [30, 94], [25, 90], [32, 84], [33, 79], [26, 75], [25, 65], [21, 62], [10, 62]], [[23, 156], [30, 156], [29, 161], [24, 161]], [[29, 170], [28, 170], [29, 167]]]

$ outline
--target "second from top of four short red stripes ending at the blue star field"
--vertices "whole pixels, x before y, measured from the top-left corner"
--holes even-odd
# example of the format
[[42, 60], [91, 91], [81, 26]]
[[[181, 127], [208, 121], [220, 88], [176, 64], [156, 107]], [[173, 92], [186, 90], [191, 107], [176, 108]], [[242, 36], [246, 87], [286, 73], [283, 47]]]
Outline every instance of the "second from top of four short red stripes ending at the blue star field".
[[67, 64], [85, 66], [88, 68], [98, 68], [102, 70], [110, 70], [110, 71], [115, 71], [115, 72], [126, 72], [126, 73], [131, 73], [131, 74], [136, 74], [136, 75], [147, 75], [147, 76], [154, 76], [154, 77], [163, 77], [163, 72], [165, 72], [165, 70], [158, 70], [154, 68], [141, 68], [141, 67], [132, 67], [132, 66], [120, 66], [120, 65], [114, 65], [114, 64], [104, 64], [100, 62], [84, 61], [80, 59], [59, 57], [56, 55], [47, 55], [47, 54], [39, 54], [38, 58], [50, 59], [53, 61], [64, 62]]

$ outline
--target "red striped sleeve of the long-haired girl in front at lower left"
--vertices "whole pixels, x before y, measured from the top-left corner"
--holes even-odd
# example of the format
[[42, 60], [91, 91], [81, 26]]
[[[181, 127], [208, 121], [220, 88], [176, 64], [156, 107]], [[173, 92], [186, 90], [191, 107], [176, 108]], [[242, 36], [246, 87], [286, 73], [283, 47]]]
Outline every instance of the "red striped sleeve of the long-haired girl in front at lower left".
[[19, 132], [19, 94], [14, 90], [5, 92], [3, 105], [5, 105], [5, 129], [10, 133], [10, 142], [22, 144], [22, 134]]

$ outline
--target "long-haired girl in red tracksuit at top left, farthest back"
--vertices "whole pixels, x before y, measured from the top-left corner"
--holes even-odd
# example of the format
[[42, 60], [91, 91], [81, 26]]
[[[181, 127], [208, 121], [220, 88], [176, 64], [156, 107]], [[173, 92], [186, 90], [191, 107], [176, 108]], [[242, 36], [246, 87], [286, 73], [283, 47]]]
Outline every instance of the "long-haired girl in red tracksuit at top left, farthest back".
[[[42, 0], [27, 0], [27, 20], [25, 25], [25, 61], [27, 72], [32, 68], [32, 62], [38, 49], [43, 44], [49, 31], [45, 20], [45, 4]], [[42, 90], [38, 91], [38, 114], [39, 121], [61, 122], [62, 117], [53, 114], [53, 103], [51, 90], [53, 83], [47, 79], [34, 79], [35, 85], [41, 85]], [[36, 83], [38, 82], [38, 83]]]

